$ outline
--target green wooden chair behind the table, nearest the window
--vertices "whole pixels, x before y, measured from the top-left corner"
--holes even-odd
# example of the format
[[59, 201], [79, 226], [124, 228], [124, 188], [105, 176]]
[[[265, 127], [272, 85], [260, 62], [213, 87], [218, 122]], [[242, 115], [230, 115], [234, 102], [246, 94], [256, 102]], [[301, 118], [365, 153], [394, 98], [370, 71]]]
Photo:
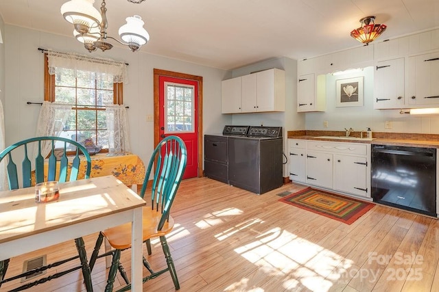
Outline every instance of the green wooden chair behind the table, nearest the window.
[[[57, 144], [56, 142], [58, 142], [58, 144], [62, 144], [62, 148], [64, 149], [64, 153], [60, 157], [60, 161], [57, 161], [55, 156], [55, 147]], [[46, 161], [45, 157], [43, 157], [41, 153], [41, 149], [45, 147], [45, 145], [51, 146], [51, 152]], [[75, 155], [73, 157], [73, 161], [71, 162], [69, 162], [69, 159], [67, 159], [67, 150], [69, 145], [75, 147]], [[35, 147], [37, 149], [36, 151], [34, 150]], [[33, 157], [31, 157], [31, 151], [38, 153], [33, 165], [30, 160], [33, 159]], [[21, 170], [17, 170], [17, 165], [14, 161], [21, 161]], [[0, 153], [0, 163], [0, 165], [3, 165], [3, 163], [7, 163], [6, 167], [8, 172], [9, 189], [32, 187], [33, 185], [37, 183], [43, 183], [44, 181], [59, 181], [60, 183], [64, 183], [66, 181], [76, 181], [79, 174], [81, 174], [81, 176], [84, 175], [84, 178], [89, 178], [91, 171], [91, 158], [90, 155], [88, 155], [86, 148], [78, 142], [63, 137], [33, 137], [27, 140], [23, 140], [21, 142], [16, 142], [8, 148], [5, 148], [5, 150]], [[45, 163], [47, 163], [47, 173], [45, 173], [44, 171]], [[71, 268], [67, 271], [58, 272], [47, 278], [41, 278], [39, 280], [36, 280], [35, 282], [24, 284], [23, 286], [16, 288], [13, 291], [21, 291], [23, 289], [33, 287], [37, 284], [47, 282], [47, 280], [58, 278], [71, 271], [75, 271], [76, 269], [82, 269], [86, 289], [87, 291], [93, 291], [91, 284], [91, 271], [88, 267], [88, 260], [86, 257], [84, 240], [82, 239], [82, 237], [75, 239], [75, 244], [76, 248], [78, 249], [78, 256], [58, 261], [56, 263], [51, 263], [50, 265], [44, 267], [38, 267], [36, 269], [32, 269], [31, 271], [27, 271], [17, 276], [12, 276], [10, 278], [5, 278], [10, 259], [0, 261], [0, 287], [1, 284], [3, 284], [4, 282], [9, 282], [11, 280], [19, 279], [25, 276], [32, 276], [33, 274], [39, 273], [40, 271], [50, 269], [51, 267], [57, 267], [62, 263], [66, 263], [67, 261], [73, 261], [79, 258], [81, 265], [79, 265], [78, 267]]]

